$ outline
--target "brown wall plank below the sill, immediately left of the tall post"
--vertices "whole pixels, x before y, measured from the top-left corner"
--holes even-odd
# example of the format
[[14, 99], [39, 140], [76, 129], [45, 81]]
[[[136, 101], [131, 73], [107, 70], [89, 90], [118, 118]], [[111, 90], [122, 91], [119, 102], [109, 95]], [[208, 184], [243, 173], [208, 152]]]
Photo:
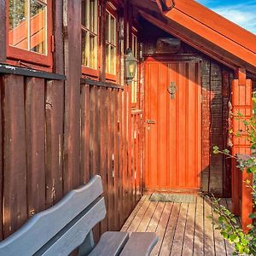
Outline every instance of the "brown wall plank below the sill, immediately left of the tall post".
[[46, 84], [46, 207], [63, 195], [64, 82]]

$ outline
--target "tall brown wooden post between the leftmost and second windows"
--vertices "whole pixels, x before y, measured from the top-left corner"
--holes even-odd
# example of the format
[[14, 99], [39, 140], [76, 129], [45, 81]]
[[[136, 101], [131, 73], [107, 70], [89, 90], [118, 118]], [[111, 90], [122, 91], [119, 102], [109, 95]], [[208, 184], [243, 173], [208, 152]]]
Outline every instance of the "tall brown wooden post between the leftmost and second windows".
[[[64, 1], [65, 126], [63, 189], [79, 186], [80, 159], [80, 78], [81, 78], [81, 1]], [[70, 19], [72, 17], [72, 19]], [[68, 35], [68, 37], [67, 37]]]

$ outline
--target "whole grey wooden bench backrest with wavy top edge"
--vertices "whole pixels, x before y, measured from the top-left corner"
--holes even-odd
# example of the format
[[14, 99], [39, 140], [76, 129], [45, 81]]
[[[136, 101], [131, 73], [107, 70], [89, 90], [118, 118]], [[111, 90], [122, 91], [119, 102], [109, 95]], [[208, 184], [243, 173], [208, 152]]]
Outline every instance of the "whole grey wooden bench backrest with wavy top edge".
[[70, 191], [0, 242], [0, 255], [68, 255], [106, 215], [102, 178]]

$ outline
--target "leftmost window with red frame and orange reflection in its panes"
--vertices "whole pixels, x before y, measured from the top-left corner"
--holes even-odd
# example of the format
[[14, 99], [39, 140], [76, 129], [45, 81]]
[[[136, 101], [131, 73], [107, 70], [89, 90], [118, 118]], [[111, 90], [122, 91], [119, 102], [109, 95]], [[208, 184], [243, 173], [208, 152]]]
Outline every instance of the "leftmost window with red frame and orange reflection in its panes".
[[8, 57], [50, 65], [50, 10], [49, 0], [8, 1]]

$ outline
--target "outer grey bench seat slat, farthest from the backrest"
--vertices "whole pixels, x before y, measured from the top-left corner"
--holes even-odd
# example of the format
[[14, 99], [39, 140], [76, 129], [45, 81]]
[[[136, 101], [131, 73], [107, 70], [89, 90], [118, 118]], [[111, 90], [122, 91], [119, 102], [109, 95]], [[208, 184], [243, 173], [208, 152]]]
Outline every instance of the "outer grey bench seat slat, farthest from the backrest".
[[120, 256], [149, 256], [158, 241], [155, 233], [136, 232], [131, 233], [131, 237], [125, 245]]

